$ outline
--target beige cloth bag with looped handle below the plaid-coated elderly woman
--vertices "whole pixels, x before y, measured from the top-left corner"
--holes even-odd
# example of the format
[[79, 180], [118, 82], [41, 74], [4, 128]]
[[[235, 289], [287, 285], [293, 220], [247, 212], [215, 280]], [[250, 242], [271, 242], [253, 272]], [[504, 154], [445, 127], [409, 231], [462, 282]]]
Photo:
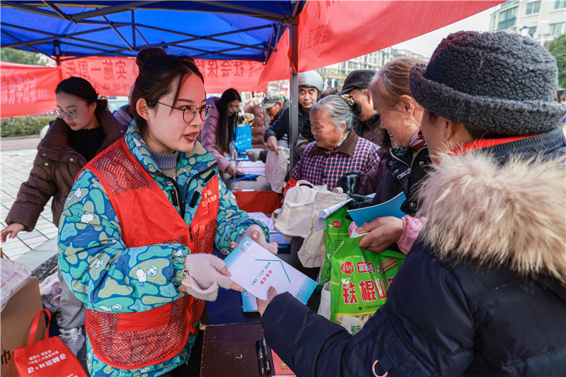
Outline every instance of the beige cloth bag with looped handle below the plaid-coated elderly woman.
[[326, 185], [314, 186], [306, 180], [297, 181], [287, 191], [282, 207], [271, 215], [275, 230], [285, 236], [306, 238], [311, 233], [316, 193], [322, 191], [328, 191]]

